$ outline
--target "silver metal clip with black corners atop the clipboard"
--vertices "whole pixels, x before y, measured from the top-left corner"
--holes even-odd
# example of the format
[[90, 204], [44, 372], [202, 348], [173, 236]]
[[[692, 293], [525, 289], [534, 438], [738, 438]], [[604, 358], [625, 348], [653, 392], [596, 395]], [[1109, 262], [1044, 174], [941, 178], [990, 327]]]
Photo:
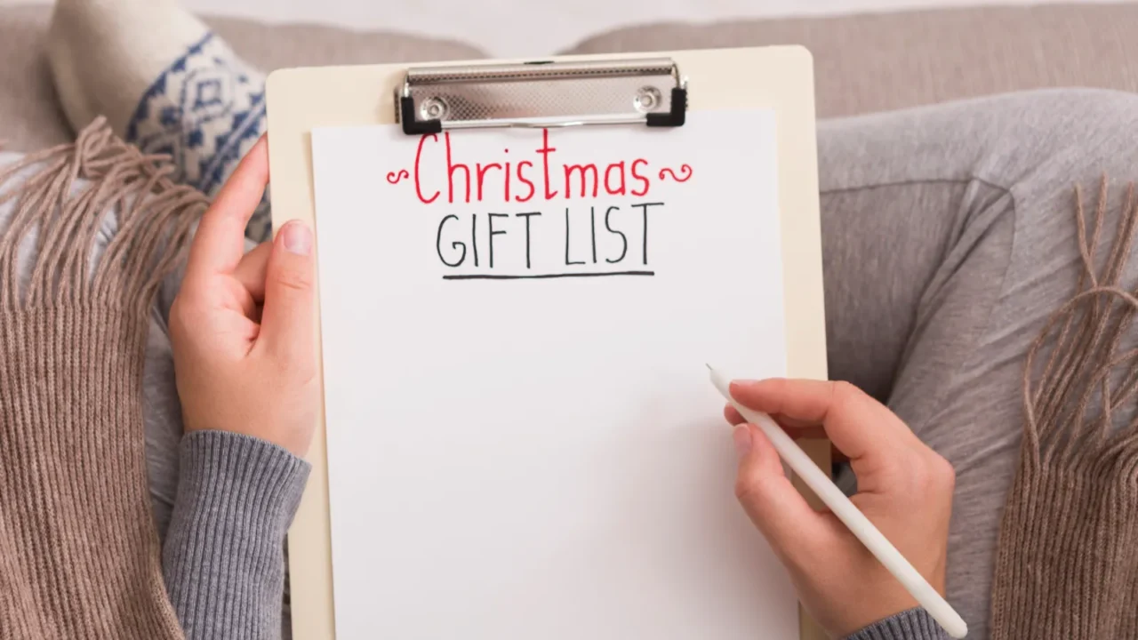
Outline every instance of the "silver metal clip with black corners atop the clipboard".
[[682, 126], [687, 81], [668, 58], [410, 68], [396, 90], [407, 136], [448, 129]]

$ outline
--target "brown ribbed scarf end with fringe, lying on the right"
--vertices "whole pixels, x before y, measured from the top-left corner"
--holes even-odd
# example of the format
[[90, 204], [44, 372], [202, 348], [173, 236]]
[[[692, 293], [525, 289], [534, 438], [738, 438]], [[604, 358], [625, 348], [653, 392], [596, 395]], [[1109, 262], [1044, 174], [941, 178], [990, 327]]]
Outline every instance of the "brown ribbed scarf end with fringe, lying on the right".
[[[1099, 269], [1104, 179], [1083, 272], [1028, 353], [1024, 442], [1005, 506], [992, 588], [992, 638], [1138, 638], [1138, 297], [1121, 278], [1138, 228], [1133, 186]], [[1128, 342], [1129, 338], [1129, 342]]]

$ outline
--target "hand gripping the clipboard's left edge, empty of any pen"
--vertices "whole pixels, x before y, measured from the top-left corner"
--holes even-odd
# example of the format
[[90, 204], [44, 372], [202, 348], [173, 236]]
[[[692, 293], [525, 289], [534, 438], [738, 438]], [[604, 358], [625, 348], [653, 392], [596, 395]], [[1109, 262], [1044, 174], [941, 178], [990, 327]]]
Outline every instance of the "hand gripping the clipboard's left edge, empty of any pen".
[[269, 441], [303, 457], [320, 410], [312, 231], [284, 224], [245, 254], [245, 227], [269, 183], [265, 138], [201, 218], [171, 307], [185, 430]]

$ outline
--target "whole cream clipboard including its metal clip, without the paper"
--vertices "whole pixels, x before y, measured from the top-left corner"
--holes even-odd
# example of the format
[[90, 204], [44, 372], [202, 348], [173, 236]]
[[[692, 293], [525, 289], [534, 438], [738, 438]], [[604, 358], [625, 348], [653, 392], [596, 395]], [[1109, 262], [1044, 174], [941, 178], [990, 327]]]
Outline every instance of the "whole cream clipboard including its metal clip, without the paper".
[[[683, 126], [685, 114], [693, 110], [773, 109], [786, 372], [827, 376], [814, 71], [802, 47], [288, 68], [270, 74], [266, 98], [274, 230], [289, 220], [315, 223], [314, 128], [399, 123], [405, 134], [418, 136], [445, 129], [533, 126], [531, 118], [542, 118], [541, 126]], [[723, 123], [726, 130], [731, 125]], [[318, 311], [318, 334], [319, 327]], [[819, 467], [830, 469], [828, 442], [802, 444]], [[323, 418], [308, 460], [312, 474], [288, 534], [292, 638], [332, 640]], [[795, 485], [808, 501], [820, 504], [808, 489]], [[799, 617], [802, 640], [824, 638], [805, 612]]]

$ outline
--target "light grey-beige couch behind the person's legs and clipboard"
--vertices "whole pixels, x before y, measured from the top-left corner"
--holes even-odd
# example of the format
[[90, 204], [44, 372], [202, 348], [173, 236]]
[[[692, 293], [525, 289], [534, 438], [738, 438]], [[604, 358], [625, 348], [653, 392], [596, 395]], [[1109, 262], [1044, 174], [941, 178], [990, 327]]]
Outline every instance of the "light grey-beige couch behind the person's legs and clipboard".
[[[11, 150], [72, 134], [42, 50], [49, 10], [0, 8], [0, 140]], [[395, 32], [205, 19], [265, 71], [485, 57], [462, 42]], [[803, 44], [815, 58], [817, 115], [834, 117], [1046, 87], [1135, 91], [1136, 33], [1138, 5], [1055, 5], [646, 24], [549, 54]]]

